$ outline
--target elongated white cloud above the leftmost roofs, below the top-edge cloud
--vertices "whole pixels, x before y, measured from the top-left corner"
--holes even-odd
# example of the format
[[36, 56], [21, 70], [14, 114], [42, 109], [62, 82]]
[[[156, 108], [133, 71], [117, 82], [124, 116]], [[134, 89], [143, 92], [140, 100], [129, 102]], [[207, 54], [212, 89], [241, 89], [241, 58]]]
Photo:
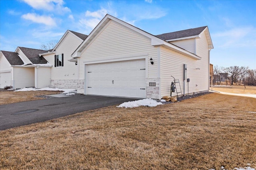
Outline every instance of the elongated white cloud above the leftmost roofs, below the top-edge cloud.
[[51, 18], [50, 16], [40, 16], [34, 13], [28, 13], [28, 14], [24, 14], [21, 16], [22, 18], [24, 18], [25, 20], [30, 20], [33, 21], [35, 23], [42, 23], [44, 25], [47, 26], [56, 26], [56, 22], [53, 18]]

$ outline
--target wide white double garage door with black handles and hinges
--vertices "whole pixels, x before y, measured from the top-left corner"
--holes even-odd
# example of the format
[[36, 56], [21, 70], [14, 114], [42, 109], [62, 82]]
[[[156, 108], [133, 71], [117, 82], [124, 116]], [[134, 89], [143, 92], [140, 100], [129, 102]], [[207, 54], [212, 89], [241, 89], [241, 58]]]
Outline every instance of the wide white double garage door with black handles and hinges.
[[87, 94], [145, 98], [145, 59], [86, 65]]

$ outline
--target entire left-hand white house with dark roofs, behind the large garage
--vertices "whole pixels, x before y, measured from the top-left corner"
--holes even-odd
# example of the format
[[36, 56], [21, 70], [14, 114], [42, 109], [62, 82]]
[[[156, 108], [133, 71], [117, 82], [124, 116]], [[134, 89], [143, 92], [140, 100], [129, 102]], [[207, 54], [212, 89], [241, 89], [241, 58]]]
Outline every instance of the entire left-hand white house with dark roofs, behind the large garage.
[[54, 49], [44, 51], [18, 47], [0, 53], [0, 88], [13, 86], [77, 88], [77, 63], [71, 54], [87, 35], [67, 30]]

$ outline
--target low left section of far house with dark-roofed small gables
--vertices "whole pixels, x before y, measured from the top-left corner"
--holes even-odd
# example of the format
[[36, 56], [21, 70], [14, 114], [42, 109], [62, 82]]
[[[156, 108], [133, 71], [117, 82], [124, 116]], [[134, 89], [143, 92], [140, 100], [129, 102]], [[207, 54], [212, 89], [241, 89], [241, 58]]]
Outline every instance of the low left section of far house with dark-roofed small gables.
[[[0, 88], [45, 87], [50, 82], [52, 67], [38, 53], [44, 50], [17, 47], [15, 52], [0, 52]], [[39, 78], [40, 77], [40, 78]]]

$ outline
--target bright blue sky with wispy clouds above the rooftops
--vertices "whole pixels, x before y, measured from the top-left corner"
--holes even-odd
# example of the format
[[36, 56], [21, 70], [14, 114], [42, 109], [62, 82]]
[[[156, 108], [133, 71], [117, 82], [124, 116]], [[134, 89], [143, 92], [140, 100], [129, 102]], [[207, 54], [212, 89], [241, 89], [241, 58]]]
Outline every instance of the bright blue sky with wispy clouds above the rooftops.
[[67, 29], [88, 35], [106, 14], [153, 35], [208, 25], [210, 63], [256, 69], [255, 0], [0, 0], [0, 50], [40, 49]]

